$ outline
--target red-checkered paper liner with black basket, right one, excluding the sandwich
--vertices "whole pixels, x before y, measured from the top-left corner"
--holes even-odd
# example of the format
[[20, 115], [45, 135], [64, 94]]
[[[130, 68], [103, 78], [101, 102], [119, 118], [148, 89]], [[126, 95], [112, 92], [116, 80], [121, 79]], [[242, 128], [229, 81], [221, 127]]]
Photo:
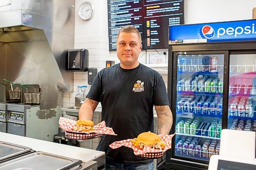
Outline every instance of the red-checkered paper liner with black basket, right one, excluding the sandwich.
[[120, 141], [115, 141], [110, 144], [110, 148], [112, 149], [117, 149], [122, 146], [132, 148], [134, 151], [134, 154], [138, 157], [141, 158], [148, 158], [148, 159], [156, 159], [160, 158], [164, 155], [164, 152], [167, 151], [168, 149], [172, 148], [172, 138], [175, 134], [172, 135], [158, 135], [161, 140], [166, 144], [163, 150], [159, 149], [152, 149], [150, 147], [144, 147], [143, 150], [140, 150], [132, 144], [133, 139], [126, 139], [126, 140], [120, 140]]

